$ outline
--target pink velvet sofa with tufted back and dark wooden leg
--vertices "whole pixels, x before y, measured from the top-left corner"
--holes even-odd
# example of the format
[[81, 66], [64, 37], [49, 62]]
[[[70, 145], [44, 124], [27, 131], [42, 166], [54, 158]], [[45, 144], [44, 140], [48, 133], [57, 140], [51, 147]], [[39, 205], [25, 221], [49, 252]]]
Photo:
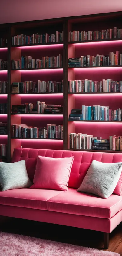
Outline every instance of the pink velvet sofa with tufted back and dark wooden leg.
[[102, 199], [76, 189], [93, 159], [104, 163], [122, 162], [122, 154], [15, 148], [12, 162], [25, 160], [32, 181], [37, 155], [74, 156], [68, 191], [29, 188], [0, 191], [0, 215], [102, 231], [104, 247], [108, 248], [109, 233], [122, 221], [122, 196], [112, 194]]

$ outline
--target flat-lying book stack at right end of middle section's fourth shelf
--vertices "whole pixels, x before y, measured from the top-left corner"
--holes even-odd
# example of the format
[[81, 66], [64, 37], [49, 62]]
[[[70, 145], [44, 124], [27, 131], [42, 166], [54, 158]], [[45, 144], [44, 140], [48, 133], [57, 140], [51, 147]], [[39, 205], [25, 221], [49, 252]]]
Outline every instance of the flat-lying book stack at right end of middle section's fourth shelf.
[[47, 105], [45, 114], [63, 114], [63, 107], [61, 105]]

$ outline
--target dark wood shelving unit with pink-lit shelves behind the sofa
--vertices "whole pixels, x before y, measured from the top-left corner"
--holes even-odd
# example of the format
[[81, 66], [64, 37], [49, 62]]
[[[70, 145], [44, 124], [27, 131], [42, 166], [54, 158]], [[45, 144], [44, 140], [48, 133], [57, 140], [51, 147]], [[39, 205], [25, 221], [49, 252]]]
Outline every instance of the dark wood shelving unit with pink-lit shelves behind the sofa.
[[[58, 19], [47, 19], [47, 20], [35, 20], [35, 21], [29, 21], [29, 22], [19, 22], [19, 23], [11, 23], [11, 24], [1, 24], [2, 31], [4, 31], [4, 38], [7, 38], [7, 45], [2, 46], [0, 48], [3, 48], [3, 51], [1, 49], [1, 52], [7, 52], [7, 57], [6, 59], [8, 60], [8, 66], [7, 70], [0, 70], [0, 76], [3, 76], [4, 74], [6, 75], [6, 80], [8, 80], [8, 86], [7, 86], [7, 103], [8, 103], [8, 114], [7, 115], [7, 123], [8, 123], [8, 156], [7, 161], [9, 162], [12, 157], [13, 149], [15, 147], [21, 147], [23, 144], [22, 142], [17, 142], [20, 140], [15, 140], [18, 138], [11, 138], [11, 125], [13, 124], [23, 124], [27, 122], [27, 125], [30, 126], [36, 126], [36, 127], [44, 127], [48, 123], [53, 123], [56, 125], [63, 124], [63, 143], [62, 143], [62, 149], [64, 150], [78, 150], [78, 149], [69, 149], [69, 133], [78, 133], [82, 132], [85, 133], [85, 127], [87, 128], [87, 134], [93, 134], [92, 133], [92, 127], [97, 127], [95, 130], [94, 128], [94, 136], [100, 137], [99, 130], [102, 126], [101, 132], [103, 134], [105, 133], [105, 130], [112, 130], [112, 134], [114, 133], [119, 133], [119, 131], [122, 131], [121, 128], [121, 123], [122, 121], [94, 121], [94, 120], [80, 120], [80, 121], [75, 121], [75, 120], [68, 120], [69, 114], [71, 113], [72, 108], [81, 108], [82, 101], [86, 100], [86, 106], [89, 106], [89, 101], [91, 102], [93, 99], [97, 101], [96, 94], [98, 94], [98, 98], [100, 99], [100, 95], [102, 94], [101, 100], [104, 102], [104, 106], [109, 106], [107, 105], [107, 100], [108, 95], [115, 94], [116, 97], [114, 98], [113, 96], [111, 97], [111, 104], [112, 104], [112, 109], [114, 109], [114, 104], [117, 105], [117, 108], [121, 108], [121, 102], [120, 102], [120, 96], [122, 95], [122, 92], [84, 92], [84, 93], [68, 93], [68, 81], [69, 80], [84, 80], [84, 79], [90, 79], [93, 80], [92, 74], [94, 76], [93, 81], [99, 81], [98, 80], [98, 74], [100, 75], [105, 74], [105, 77], [103, 75], [103, 78], [107, 79], [114, 79], [117, 81], [118, 80], [118, 75], [119, 75], [119, 81], [122, 80], [122, 73], [121, 73], [121, 67], [122, 65], [113, 65], [113, 66], [91, 66], [91, 67], [68, 67], [68, 59], [69, 58], [74, 58], [78, 56], [86, 56], [87, 54], [92, 55], [92, 52], [90, 53], [91, 45], [93, 43], [93, 55], [96, 56], [96, 54], [101, 54], [107, 55], [109, 54], [109, 49], [104, 52], [104, 49], [106, 47], [109, 47], [109, 42], [110, 42], [110, 51], [116, 52], [120, 51], [120, 44], [122, 41], [122, 38], [112, 38], [112, 39], [101, 39], [101, 40], [88, 40], [88, 41], [74, 41], [74, 42], [68, 42], [68, 33], [69, 31], [77, 30], [77, 31], [94, 31], [94, 30], [104, 30], [110, 27], [117, 27], [121, 28], [122, 27], [122, 22], [121, 22], [121, 16], [122, 12], [114, 12], [114, 13], [100, 13], [100, 14], [93, 14], [93, 15], [83, 15], [83, 16], [74, 16], [74, 17], [64, 17], [64, 18], [58, 18]], [[45, 34], [48, 33], [50, 34], [55, 34], [55, 31], [64, 31], [64, 40], [63, 42], [53, 42], [53, 43], [36, 43], [36, 44], [28, 44], [28, 45], [12, 45], [12, 37], [16, 36], [17, 34], [26, 34], [26, 35], [32, 35], [32, 34]], [[6, 36], [6, 37], [5, 37]], [[99, 43], [101, 42], [101, 49], [99, 48], [99, 51], [97, 50]], [[102, 45], [103, 42], [103, 45]], [[107, 42], [107, 44], [105, 44]], [[112, 42], [112, 43], [111, 43]], [[115, 42], [115, 43], [114, 43]], [[116, 43], [117, 42], [117, 43]], [[120, 43], [119, 43], [120, 42]], [[84, 45], [85, 43], [85, 45]], [[90, 48], [89, 48], [89, 43], [90, 43]], [[95, 44], [96, 43], [96, 44]], [[98, 44], [97, 44], [98, 43]], [[52, 46], [53, 47], [50, 47]], [[58, 46], [59, 45], [59, 46]], [[61, 47], [60, 47], [61, 45]], [[113, 46], [114, 45], [114, 46]], [[34, 47], [37, 46], [37, 47]], [[38, 47], [44, 46], [45, 52], [44, 55], [43, 51], [38, 52]], [[46, 48], [46, 46], [48, 46]], [[55, 47], [54, 47], [55, 46]], [[114, 47], [114, 49], [112, 48]], [[7, 48], [7, 51], [4, 51], [4, 48]], [[36, 49], [37, 48], [37, 49]], [[43, 48], [43, 47], [42, 47]], [[85, 49], [85, 53], [84, 50]], [[40, 47], [41, 49], [41, 47]], [[81, 55], [78, 52], [78, 50], [82, 51]], [[27, 51], [27, 54], [26, 54]], [[75, 52], [76, 51], [76, 52]], [[102, 51], [102, 52], [100, 52]], [[32, 55], [31, 55], [32, 53]], [[40, 55], [39, 55], [40, 54]], [[53, 67], [53, 68], [31, 68], [31, 69], [12, 69], [11, 67], [11, 60], [12, 59], [21, 59], [21, 56], [33, 56], [35, 59], [40, 59], [42, 56], [57, 56], [57, 55], [63, 55], [63, 66], [62, 67]], [[112, 68], [115, 68], [112, 70]], [[93, 68], [99, 68], [97, 69], [97, 72], [92, 72], [90, 70]], [[104, 68], [104, 70], [102, 70]], [[107, 68], [107, 69], [106, 69]], [[109, 68], [109, 69], [108, 69]], [[117, 69], [118, 68], [118, 69]], [[61, 70], [61, 72], [58, 72], [58, 70]], [[75, 70], [77, 69], [77, 70]], [[79, 69], [79, 70], [78, 70]], [[80, 69], [85, 69], [80, 70]], [[24, 70], [25, 72], [18, 72]], [[30, 70], [30, 72], [26, 72]], [[32, 70], [41, 70], [41, 73], [39, 72], [31, 72]], [[46, 71], [45, 71], [46, 70]], [[53, 70], [50, 72], [50, 70]], [[55, 70], [55, 71], [54, 71]], [[8, 72], [3, 72], [2, 71], [8, 71]], [[16, 71], [16, 72], [15, 72]], [[44, 71], [44, 72], [43, 72]], [[107, 72], [108, 72], [108, 77], [107, 77]], [[41, 74], [41, 76], [40, 76]], [[88, 77], [85, 77], [87, 75]], [[110, 76], [111, 74], [111, 76]], [[116, 75], [117, 74], [117, 75]], [[96, 79], [97, 76], [97, 79]], [[49, 93], [11, 93], [11, 85], [13, 82], [24, 82], [24, 81], [35, 81], [37, 83], [38, 80], [42, 81], [57, 81], [60, 82], [63, 80], [63, 88], [64, 91], [62, 92], [49, 92]], [[5, 81], [5, 78], [3, 78]], [[2, 80], [0, 80], [2, 81]], [[48, 98], [48, 102], [46, 104], [61, 104], [63, 106], [63, 114], [30, 114], [30, 113], [25, 113], [25, 114], [13, 114], [11, 113], [11, 106], [12, 105], [20, 105], [20, 104], [25, 104], [28, 102], [29, 96], [36, 94], [41, 98], [43, 95], [43, 100], [46, 101], [48, 98], [48, 95], [50, 97]], [[54, 96], [55, 94], [58, 94], [56, 97]], [[63, 96], [59, 96], [62, 94]], [[71, 95], [74, 94], [74, 95]], [[79, 95], [78, 97], [75, 98], [75, 95]], [[84, 94], [84, 96], [83, 96]], [[2, 95], [6, 95], [2, 94]], [[23, 97], [24, 95], [24, 97]], [[80, 98], [81, 95], [81, 98]], [[104, 95], [104, 96], [103, 96]], [[120, 96], [119, 96], [120, 95]], [[27, 97], [26, 97], [27, 96]], [[47, 96], [47, 97], [45, 97]], [[54, 99], [53, 99], [54, 97]], [[96, 97], [96, 99], [95, 99]], [[4, 97], [3, 97], [4, 98]], [[36, 102], [36, 97], [30, 97], [31, 100]], [[2, 97], [1, 97], [2, 99]], [[105, 101], [106, 99], [106, 101]], [[113, 100], [114, 99], [114, 100]], [[79, 103], [77, 101], [79, 100]], [[54, 102], [55, 101], [55, 102]], [[51, 102], [51, 103], [50, 103]], [[93, 102], [94, 103], [94, 102]], [[95, 103], [95, 105], [97, 105]], [[100, 104], [99, 104], [100, 105]], [[90, 103], [90, 106], [91, 103]], [[1, 114], [2, 115], [2, 114]], [[5, 114], [3, 114], [5, 115]], [[26, 115], [24, 117], [24, 115]], [[26, 118], [28, 115], [28, 118]], [[29, 117], [31, 116], [31, 118]], [[37, 117], [35, 116], [37, 115]], [[41, 118], [38, 118], [38, 115], [43, 116], [43, 122], [44, 125], [41, 123]], [[47, 118], [46, 118], [46, 115]], [[50, 117], [49, 117], [50, 115]], [[58, 116], [61, 116], [61, 118], [57, 118]], [[53, 117], [52, 117], [53, 116]], [[62, 117], [63, 116], [63, 117]], [[48, 121], [50, 120], [50, 121]], [[32, 123], [31, 123], [32, 122]], [[71, 123], [71, 122], [77, 122], [77, 123]], [[79, 123], [78, 122], [82, 122]], [[84, 123], [83, 123], [84, 122]], [[90, 122], [90, 123], [88, 123]], [[38, 125], [39, 123], [39, 125]], [[95, 124], [96, 123], [96, 124]], [[99, 123], [103, 123], [102, 125]], [[108, 124], [105, 124], [108, 123]], [[110, 124], [109, 124], [110, 123]], [[120, 125], [118, 124], [120, 123]], [[31, 125], [32, 124], [32, 125]], [[109, 128], [107, 128], [109, 127]], [[113, 128], [114, 127], [114, 128]], [[98, 132], [98, 135], [97, 135]], [[118, 135], [117, 133], [117, 135]], [[102, 136], [103, 136], [102, 134]], [[112, 135], [110, 134], [110, 135]], [[121, 135], [121, 133], [120, 133]], [[108, 137], [109, 137], [109, 132], [108, 132]], [[14, 139], [14, 140], [13, 140]], [[19, 138], [24, 141], [24, 139], [27, 138]], [[32, 138], [28, 138], [32, 139]], [[33, 138], [34, 139], [34, 138]], [[40, 144], [38, 143], [37, 146], [40, 145], [41, 148], [41, 140], [40, 139]], [[53, 139], [51, 139], [53, 140]], [[54, 140], [60, 140], [60, 139], [54, 139]], [[51, 143], [50, 139], [47, 139], [49, 143]], [[23, 142], [24, 143], [24, 142]], [[45, 144], [48, 142], [45, 142]], [[55, 142], [54, 142], [55, 143]], [[58, 143], [58, 142], [57, 142]], [[25, 143], [26, 144], [26, 143]], [[43, 144], [44, 145], [44, 144]], [[31, 145], [32, 146], [32, 145]], [[50, 146], [48, 146], [50, 148]], [[61, 149], [61, 147], [59, 147]], [[56, 148], [57, 149], [57, 148]], [[78, 150], [79, 151], [79, 150]], [[121, 151], [111, 151], [111, 150], [80, 150], [80, 151], [93, 151], [93, 152], [110, 152], [110, 153], [121, 153]]]

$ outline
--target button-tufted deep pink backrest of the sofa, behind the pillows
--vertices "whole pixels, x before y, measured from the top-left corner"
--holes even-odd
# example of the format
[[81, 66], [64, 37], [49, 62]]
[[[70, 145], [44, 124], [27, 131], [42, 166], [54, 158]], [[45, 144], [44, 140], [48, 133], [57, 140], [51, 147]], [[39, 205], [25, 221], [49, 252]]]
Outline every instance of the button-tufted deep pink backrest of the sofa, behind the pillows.
[[15, 148], [12, 163], [25, 160], [28, 176], [31, 181], [34, 178], [37, 155], [54, 158], [74, 156], [68, 187], [76, 189], [81, 185], [93, 160], [103, 163], [122, 162], [122, 153]]

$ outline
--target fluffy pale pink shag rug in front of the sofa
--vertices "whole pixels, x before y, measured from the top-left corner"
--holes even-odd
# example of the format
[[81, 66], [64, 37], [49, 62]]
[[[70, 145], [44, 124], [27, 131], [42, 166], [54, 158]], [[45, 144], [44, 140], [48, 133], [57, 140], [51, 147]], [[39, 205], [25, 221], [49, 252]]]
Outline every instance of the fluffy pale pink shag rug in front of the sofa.
[[119, 256], [97, 249], [0, 232], [0, 256]]

